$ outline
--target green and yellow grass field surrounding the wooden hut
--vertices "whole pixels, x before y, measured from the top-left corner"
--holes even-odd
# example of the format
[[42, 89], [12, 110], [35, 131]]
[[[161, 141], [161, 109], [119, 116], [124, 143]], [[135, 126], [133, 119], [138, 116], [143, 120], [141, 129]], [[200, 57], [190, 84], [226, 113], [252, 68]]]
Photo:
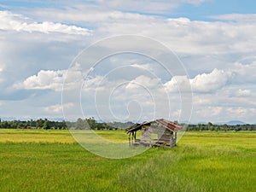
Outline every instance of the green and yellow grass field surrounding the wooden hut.
[[[97, 133], [126, 141], [124, 131]], [[68, 131], [0, 130], [0, 191], [251, 192], [255, 162], [255, 132], [186, 132], [175, 148], [110, 160]]]

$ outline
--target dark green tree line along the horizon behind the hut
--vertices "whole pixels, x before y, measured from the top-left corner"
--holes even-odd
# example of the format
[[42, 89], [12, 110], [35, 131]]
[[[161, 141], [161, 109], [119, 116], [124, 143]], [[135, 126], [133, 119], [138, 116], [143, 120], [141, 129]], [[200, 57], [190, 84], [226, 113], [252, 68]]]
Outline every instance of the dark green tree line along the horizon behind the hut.
[[[176, 121], [177, 123], [177, 121]], [[125, 130], [134, 125], [129, 122], [97, 122], [94, 118], [77, 119], [76, 121], [54, 121], [49, 119], [30, 119], [30, 120], [2, 120], [0, 119], [0, 128], [2, 129], [43, 129], [43, 130]], [[181, 124], [183, 125], [183, 124]], [[187, 125], [187, 131], [256, 131], [256, 125], [214, 125], [211, 122], [207, 124]]]

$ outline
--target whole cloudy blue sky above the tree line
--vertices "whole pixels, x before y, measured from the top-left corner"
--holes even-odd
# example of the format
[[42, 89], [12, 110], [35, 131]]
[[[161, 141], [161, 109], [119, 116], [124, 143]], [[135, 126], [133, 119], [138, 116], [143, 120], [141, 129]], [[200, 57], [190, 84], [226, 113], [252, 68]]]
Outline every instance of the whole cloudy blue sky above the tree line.
[[0, 118], [256, 123], [255, 7], [2, 0]]

